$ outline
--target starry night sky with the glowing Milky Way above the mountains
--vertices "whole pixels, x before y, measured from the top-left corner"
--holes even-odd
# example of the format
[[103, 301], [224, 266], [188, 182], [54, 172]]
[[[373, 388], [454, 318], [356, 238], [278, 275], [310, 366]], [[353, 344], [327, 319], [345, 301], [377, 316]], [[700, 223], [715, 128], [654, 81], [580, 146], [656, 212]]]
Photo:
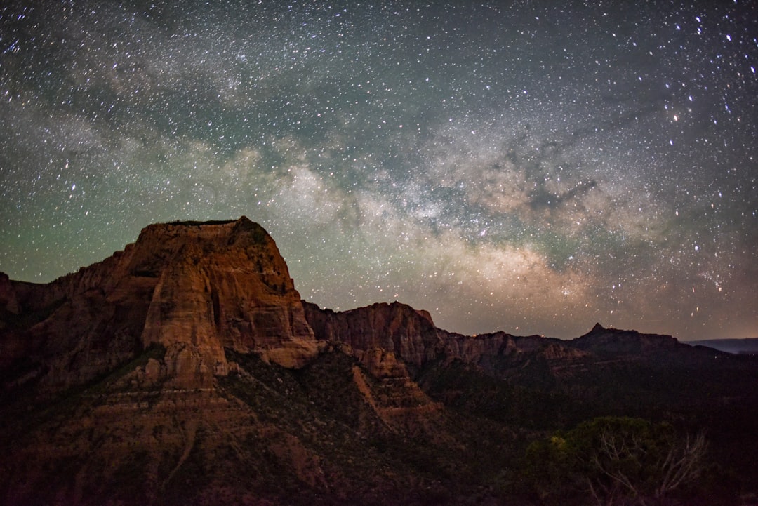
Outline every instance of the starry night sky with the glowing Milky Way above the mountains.
[[758, 2], [172, 3], [2, 2], [11, 279], [246, 215], [321, 307], [758, 336]]

